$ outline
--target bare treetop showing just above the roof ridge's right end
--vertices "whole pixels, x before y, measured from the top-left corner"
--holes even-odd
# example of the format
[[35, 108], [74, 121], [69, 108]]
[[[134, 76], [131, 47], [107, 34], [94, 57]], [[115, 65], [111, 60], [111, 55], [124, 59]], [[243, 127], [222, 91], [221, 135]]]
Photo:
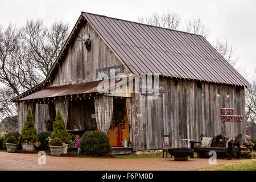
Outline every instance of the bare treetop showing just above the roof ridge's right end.
[[202, 36], [204, 36], [205, 39], [210, 34], [209, 29], [207, 27], [205, 27], [201, 18], [199, 18], [199, 17], [187, 20], [184, 31], [192, 33], [192, 34], [202, 35]]

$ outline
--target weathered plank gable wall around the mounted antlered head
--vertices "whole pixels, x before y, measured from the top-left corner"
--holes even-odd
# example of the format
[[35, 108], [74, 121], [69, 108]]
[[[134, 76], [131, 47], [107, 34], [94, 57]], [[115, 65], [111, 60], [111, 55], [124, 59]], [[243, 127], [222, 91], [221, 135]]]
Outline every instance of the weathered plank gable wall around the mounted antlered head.
[[[77, 37], [69, 47], [64, 61], [60, 62], [51, 86], [96, 81], [96, 69], [121, 65], [89, 24], [82, 25], [79, 35], [81, 38], [88, 38], [88, 32], [92, 41], [90, 52], [86, 50], [84, 42], [79, 42]], [[124, 72], [127, 73], [126, 69]]]

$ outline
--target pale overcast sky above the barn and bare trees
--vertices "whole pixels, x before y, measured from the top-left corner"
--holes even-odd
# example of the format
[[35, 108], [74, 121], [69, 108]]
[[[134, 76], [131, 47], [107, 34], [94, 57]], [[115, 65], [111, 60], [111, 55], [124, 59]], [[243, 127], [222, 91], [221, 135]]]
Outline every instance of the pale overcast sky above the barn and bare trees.
[[136, 21], [138, 16], [175, 11], [184, 19], [200, 16], [211, 33], [210, 43], [219, 38], [228, 39], [240, 57], [238, 66], [253, 75], [256, 69], [256, 1], [207, 1], [207, 0], [117, 0], [117, 1], [3, 1], [0, 0], [0, 24], [14, 23], [21, 26], [27, 19], [43, 19], [51, 24], [62, 19], [71, 28], [81, 11]]

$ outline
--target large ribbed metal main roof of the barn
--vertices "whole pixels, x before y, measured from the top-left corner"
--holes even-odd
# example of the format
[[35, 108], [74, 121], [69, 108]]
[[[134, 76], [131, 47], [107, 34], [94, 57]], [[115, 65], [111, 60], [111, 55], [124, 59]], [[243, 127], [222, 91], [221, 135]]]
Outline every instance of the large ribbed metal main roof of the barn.
[[200, 35], [83, 12], [133, 73], [250, 86]]

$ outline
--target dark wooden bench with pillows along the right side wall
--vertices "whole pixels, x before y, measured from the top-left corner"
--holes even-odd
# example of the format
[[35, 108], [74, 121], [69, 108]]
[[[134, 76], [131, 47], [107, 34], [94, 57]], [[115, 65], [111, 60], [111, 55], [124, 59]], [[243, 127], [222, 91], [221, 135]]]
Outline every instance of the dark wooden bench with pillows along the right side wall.
[[[201, 140], [203, 137], [205, 137], [204, 134], [200, 135]], [[213, 137], [213, 142], [211, 144], [211, 147], [201, 147], [201, 146], [195, 146], [195, 144], [201, 142], [195, 142], [195, 141], [190, 141], [190, 147], [194, 148], [195, 152], [198, 152], [200, 154], [200, 158], [204, 156], [204, 154], [207, 154], [209, 151], [215, 151], [218, 154], [228, 154], [228, 159], [232, 159], [234, 153], [237, 153], [237, 158], [241, 158], [241, 147], [240, 147], [240, 140], [241, 140], [242, 134], [238, 134], [237, 137], [235, 138], [235, 142], [228, 142], [228, 147], [226, 147], [226, 141], [228, 140], [229, 137], [224, 137], [223, 135], [218, 135], [216, 137]], [[216, 138], [222, 138], [223, 144], [221, 146], [218, 145], [218, 140]], [[193, 155], [190, 156], [191, 158], [194, 158]]]

